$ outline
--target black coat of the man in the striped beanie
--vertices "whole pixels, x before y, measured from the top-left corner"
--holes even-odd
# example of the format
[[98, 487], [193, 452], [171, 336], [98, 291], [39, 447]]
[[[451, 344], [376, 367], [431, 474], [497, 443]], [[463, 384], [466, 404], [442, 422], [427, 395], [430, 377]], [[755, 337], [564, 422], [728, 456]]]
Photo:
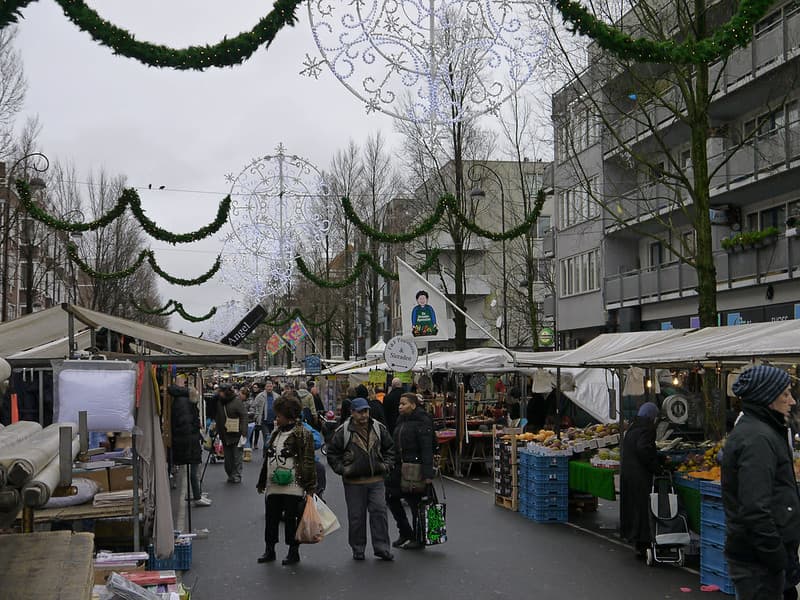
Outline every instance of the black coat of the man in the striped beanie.
[[785, 547], [800, 540], [800, 498], [787, 435], [780, 413], [745, 404], [722, 456], [725, 553], [773, 572], [786, 568]]

